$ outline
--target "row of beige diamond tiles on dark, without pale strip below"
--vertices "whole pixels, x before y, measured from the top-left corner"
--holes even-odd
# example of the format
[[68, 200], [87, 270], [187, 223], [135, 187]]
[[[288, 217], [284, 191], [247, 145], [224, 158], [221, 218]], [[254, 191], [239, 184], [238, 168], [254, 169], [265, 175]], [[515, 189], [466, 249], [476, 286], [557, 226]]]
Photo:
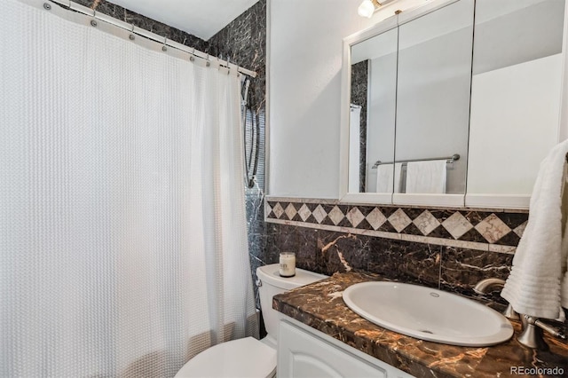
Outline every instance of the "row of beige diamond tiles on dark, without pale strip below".
[[[515, 247], [528, 214], [266, 201], [266, 218]], [[441, 227], [440, 227], [441, 225]]]

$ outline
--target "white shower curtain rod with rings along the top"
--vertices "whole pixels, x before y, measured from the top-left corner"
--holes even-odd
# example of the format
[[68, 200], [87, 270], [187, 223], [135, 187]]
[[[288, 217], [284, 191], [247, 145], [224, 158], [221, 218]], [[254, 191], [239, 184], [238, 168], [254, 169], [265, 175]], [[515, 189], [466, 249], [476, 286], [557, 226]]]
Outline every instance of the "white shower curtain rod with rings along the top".
[[[256, 77], [255, 71], [251, 71], [251, 70], [243, 68], [241, 66], [237, 66], [236, 64], [233, 64], [233, 63], [229, 62], [228, 60], [222, 60], [222, 59], [218, 59], [217, 57], [212, 57], [206, 52], [195, 50], [191, 47], [185, 46], [185, 44], [177, 43], [176, 41], [172, 41], [172, 40], [166, 38], [165, 36], [157, 35], [155, 33], [152, 33], [151, 31], [148, 31], [148, 30], [143, 29], [143, 28], [138, 28], [138, 27], [136, 27], [132, 24], [129, 24], [128, 22], [124, 22], [122, 20], [115, 19], [114, 17], [108, 16], [108, 15], [101, 13], [101, 12], [97, 12], [97, 11], [95, 11], [95, 10], [89, 8], [89, 7], [84, 6], [84, 5], [74, 3], [70, 0], [49, 0], [49, 1], [51, 3], [56, 3], [56, 4], [59, 4], [59, 5], [62, 5], [66, 8], [68, 8], [71, 11], [79, 12], [79, 13], [85, 14], [87, 16], [90, 16], [93, 19], [101, 20], [101, 21], [106, 22], [108, 24], [114, 25], [117, 28], [122, 28], [122, 29], [128, 30], [130, 33], [143, 36], [143, 37], [150, 39], [150, 40], [152, 40], [156, 43], [161, 43], [164, 46], [169, 46], [169, 47], [172, 47], [174, 49], [187, 52], [188, 54], [191, 54], [193, 57], [205, 59], [205, 60], [208, 60], [208, 61], [215, 60], [217, 62], [217, 64], [221, 67], [227, 67], [229, 69], [236, 69], [241, 74], [248, 75], [248, 76], [251, 76], [251, 77]], [[47, 6], [49, 6], [49, 3], [43, 4], [43, 8], [48, 9]], [[91, 25], [92, 25], [92, 22], [91, 22]], [[96, 23], [93, 26], [96, 26]]]

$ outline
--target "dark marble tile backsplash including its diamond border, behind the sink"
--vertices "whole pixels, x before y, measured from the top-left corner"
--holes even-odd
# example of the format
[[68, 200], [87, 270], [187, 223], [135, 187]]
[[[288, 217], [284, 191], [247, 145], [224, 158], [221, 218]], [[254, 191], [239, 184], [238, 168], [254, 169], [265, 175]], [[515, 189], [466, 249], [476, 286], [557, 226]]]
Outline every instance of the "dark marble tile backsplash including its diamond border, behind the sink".
[[[340, 204], [271, 197], [264, 204], [267, 259], [296, 252], [298, 266], [333, 274], [358, 269], [462, 295], [488, 277], [506, 279], [528, 211]], [[487, 297], [502, 302], [494, 293]]]

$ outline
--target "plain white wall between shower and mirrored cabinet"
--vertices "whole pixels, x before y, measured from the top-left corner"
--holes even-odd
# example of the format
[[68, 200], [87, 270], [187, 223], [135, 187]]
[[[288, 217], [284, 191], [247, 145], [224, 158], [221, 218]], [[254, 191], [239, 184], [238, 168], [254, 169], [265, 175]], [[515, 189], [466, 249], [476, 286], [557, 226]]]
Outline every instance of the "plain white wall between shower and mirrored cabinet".
[[361, 0], [269, 0], [268, 194], [337, 198], [343, 38], [425, 3], [399, 0], [370, 19]]

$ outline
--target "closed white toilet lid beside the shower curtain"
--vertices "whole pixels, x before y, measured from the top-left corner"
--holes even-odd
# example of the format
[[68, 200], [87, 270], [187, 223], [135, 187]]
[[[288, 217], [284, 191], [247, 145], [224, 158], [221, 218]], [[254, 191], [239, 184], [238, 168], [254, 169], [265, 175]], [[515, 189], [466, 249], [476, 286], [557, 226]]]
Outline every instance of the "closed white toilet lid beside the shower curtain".
[[275, 369], [276, 350], [245, 337], [202, 351], [177, 372], [176, 378], [265, 378], [272, 376]]

